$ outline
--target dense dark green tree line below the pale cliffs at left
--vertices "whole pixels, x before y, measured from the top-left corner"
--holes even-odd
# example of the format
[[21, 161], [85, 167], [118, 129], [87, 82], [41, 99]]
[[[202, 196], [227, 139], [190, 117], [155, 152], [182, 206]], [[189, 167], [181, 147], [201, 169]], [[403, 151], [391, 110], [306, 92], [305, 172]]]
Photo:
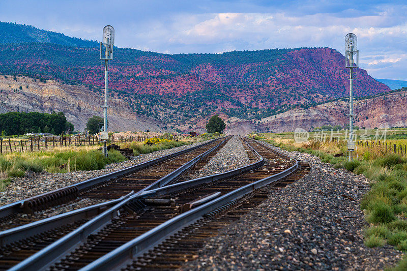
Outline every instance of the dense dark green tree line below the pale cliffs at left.
[[60, 135], [71, 133], [72, 123], [67, 122], [63, 112], [8, 112], [0, 114], [0, 131], [5, 135], [23, 135], [26, 133], [51, 133]]

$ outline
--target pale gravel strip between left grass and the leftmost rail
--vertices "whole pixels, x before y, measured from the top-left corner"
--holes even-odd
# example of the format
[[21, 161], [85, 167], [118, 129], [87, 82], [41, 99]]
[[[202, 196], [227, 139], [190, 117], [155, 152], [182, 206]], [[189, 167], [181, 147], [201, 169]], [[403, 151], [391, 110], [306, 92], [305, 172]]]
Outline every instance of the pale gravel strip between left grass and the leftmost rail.
[[0, 193], [0, 206], [6, 205], [24, 198], [36, 196], [55, 189], [70, 186], [84, 180], [101, 176], [113, 171], [117, 171], [130, 166], [138, 165], [152, 159], [159, 158], [164, 155], [173, 154], [180, 150], [190, 148], [204, 142], [195, 142], [189, 145], [180, 147], [162, 149], [150, 154], [141, 154], [133, 159], [126, 160], [120, 163], [111, 163], [106, 165], [104, 169], [90, 171], [75, 171], [68, 173], [35, 173], [32, 171], [26, 172], [26, 175], [21, 178], [13, 178], [6, 190]]

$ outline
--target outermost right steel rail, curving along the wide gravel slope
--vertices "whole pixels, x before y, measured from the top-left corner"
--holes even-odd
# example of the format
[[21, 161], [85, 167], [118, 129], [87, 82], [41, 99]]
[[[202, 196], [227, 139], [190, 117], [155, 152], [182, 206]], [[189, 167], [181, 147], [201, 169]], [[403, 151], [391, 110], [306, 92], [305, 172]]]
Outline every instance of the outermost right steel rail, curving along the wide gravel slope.
[[[263, 144], [262, 144], [263, 145]], [[268, 149], [273, 150], [284, 157], [288, 157], [276, 150], [264, 145]], [[194, 209], [191, 209], [175, 218], [172, 218], [160, 226], [151, 229], [150, 231], [134, 238], [130, 242], [122, 245], [121, 247], [107, 253], [96, 261], [86, 265], [81, 268], [81, 271], [90, 271], [90, 270], [115, 270], [124, 265], [128, 264], [133, 258], [142, 255], [147, 252], [149, 249], [153, 248], [155, 245], [161, 243], [165, 238], [176, 233], [180, 229], [191, 225], [197, 220], [201, 219], [204, 215], [207, 215], [211, 212], [214, 212], [216, 209], [224, 206], [230, 205], [231, 202], [234, 202], [236, 199], [253, 192], [255, 189], [266, 186], [268, 184], [277, 182], [279, 179], [284, 178], [299, 167], [299, 163], [296, 159], [288, 157], [290, 160], [294, 161], [294, 165], [288, 169], [279, 172], [277, 174], [271, 175], [269, 177], [257, 180], [252, 184], [248, 184], [244, 187], [231, 191], [221, 197], [218, 197], [206, 204], [200, 205]]]

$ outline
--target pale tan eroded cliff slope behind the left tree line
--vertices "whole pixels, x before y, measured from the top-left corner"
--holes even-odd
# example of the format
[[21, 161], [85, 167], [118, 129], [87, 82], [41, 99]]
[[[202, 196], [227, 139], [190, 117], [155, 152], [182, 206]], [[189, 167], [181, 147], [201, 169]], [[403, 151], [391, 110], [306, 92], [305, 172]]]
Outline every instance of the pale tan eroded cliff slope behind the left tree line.
[[[75, 130], [84, 131], [93, 115], [102, 116], [103, 96], [84, 86], [56, 81], [40, 81], [30, 77], [0, 77], [0, 113], [8, 111], [65, 113]], [[122, 99], [109, 98], [109, 131], [173, 131], [157, 119], [137, 115]]]

